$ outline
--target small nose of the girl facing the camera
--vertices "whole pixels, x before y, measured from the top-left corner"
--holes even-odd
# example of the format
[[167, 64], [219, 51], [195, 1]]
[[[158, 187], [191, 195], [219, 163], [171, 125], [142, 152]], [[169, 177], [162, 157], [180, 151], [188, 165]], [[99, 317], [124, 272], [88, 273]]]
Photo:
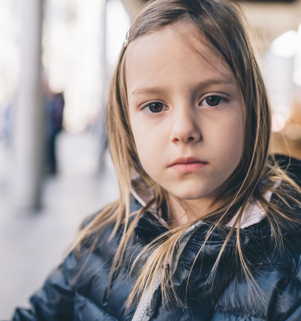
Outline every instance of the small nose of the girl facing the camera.
[[201, 138], [201, 129], [193, 108], [188, 106], [175, 108], [172, 115], [171, 141], [173, 143], [195, 143]]

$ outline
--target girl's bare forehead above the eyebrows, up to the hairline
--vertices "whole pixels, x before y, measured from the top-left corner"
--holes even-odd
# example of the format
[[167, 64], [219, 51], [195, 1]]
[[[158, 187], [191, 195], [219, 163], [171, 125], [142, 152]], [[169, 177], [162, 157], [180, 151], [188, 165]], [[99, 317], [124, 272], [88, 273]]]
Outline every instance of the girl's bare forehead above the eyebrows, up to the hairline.
[[172, 84], [177, 77], [191, 85], [204, 78], [235, 82], [223, 57], [186, 21], [137, 38], [129, 44], [125, 59], [129, 96], [140, 86]]

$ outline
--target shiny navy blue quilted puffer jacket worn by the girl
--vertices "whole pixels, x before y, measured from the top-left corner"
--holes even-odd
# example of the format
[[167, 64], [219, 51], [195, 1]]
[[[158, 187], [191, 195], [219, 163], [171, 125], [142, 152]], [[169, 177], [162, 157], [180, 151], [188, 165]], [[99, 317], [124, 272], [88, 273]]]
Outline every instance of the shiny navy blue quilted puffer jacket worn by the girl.
[[[140, 208], [140, 204], [132, 198], [131, 207], [134, 211]], [[298, 207], [295, 210], [301, 215]], [[114, 278], [108, 297], [108, 275], [119, 242], [118, 236], [108, 241], [110, 227], [103, 231], [90, 256], [88, 250], [83, 250], [78, 257], [74, 252], [70, 253], [50, 274], [43, 288], [32, 296], [32, 308], [17, 309], [13, 320], [129, 321], [134, 317], [134, 320], [156, 321], [300, 321], [300, 226], [283, 227], [284, 246], [281, 251], [271, 242], [271, 230], [266, 219], [241, 230], [243, 253], [257, 284], [253, 292], [245, 277], [239, 273], [234, 238], [227, 244], [213, 283], [208, 285], [208, 275], [225, 240], [227, 227], [215, 229], [189, 276], [210, 226], [210, 223], [200, 222], [187, 233], [177, 262], [173, 282], [176, 291], [186, 302], [185, 308], [176, 303], [164, 306], [159, 286], [152, 294], [150, 309], [145, 310], [141, 301], [125, 310], [124, 302], [132, 288], [128, 277], [131, 254], [137, 253], [145, 243], [166, 230], [155, 216], [146, 213], [136, 226], [132, 244], [128, 248], [128, 260]], [[93, 238], [85, 244], [86, 249], [92, 242]], [[255, 294], [256, 303], [252, 293]]]

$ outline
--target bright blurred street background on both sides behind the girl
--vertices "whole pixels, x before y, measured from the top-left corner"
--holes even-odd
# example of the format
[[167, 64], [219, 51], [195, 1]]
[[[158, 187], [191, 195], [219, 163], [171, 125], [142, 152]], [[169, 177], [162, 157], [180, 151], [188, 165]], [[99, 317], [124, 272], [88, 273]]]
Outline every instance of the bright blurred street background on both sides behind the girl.
[[[137, 0], [0, 0], [0, 318], [118, 196], [105, 96]], [[272, 150], [301, 158], [301, 0], [246, 1], [273, 108]]]

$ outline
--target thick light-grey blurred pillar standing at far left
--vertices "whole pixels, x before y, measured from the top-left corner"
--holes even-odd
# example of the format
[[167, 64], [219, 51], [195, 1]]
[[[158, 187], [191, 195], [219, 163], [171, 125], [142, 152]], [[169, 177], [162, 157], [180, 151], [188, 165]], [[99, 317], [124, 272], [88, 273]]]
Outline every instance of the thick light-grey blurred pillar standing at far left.
[[43, 161], [42, 2], [22, 1], [21, 69], [13, 110], [11, 198], [16, 209], [40, 206]]

